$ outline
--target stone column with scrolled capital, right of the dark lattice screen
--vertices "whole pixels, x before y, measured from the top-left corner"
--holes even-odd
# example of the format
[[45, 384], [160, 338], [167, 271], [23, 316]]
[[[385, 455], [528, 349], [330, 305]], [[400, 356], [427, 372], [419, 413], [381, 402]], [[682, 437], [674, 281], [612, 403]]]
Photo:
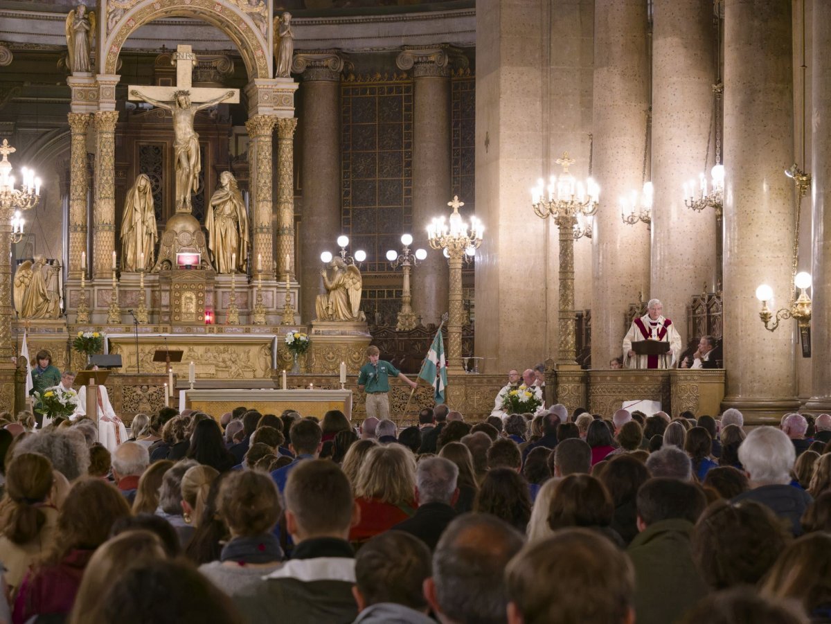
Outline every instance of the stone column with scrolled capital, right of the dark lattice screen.
[[[407, 46], [399, 69], [412, 70], [413, 95], [413, 248], [429, 248], [427, 225], [445, 214], [450, 199], [449, 46]], [[465, 197], [459, 198], [465, 201]], [[442, 253], [430, 253], [412, 273], [412, 307], [425, 323], [438, 323], [448, 310], [449, 272]]]

